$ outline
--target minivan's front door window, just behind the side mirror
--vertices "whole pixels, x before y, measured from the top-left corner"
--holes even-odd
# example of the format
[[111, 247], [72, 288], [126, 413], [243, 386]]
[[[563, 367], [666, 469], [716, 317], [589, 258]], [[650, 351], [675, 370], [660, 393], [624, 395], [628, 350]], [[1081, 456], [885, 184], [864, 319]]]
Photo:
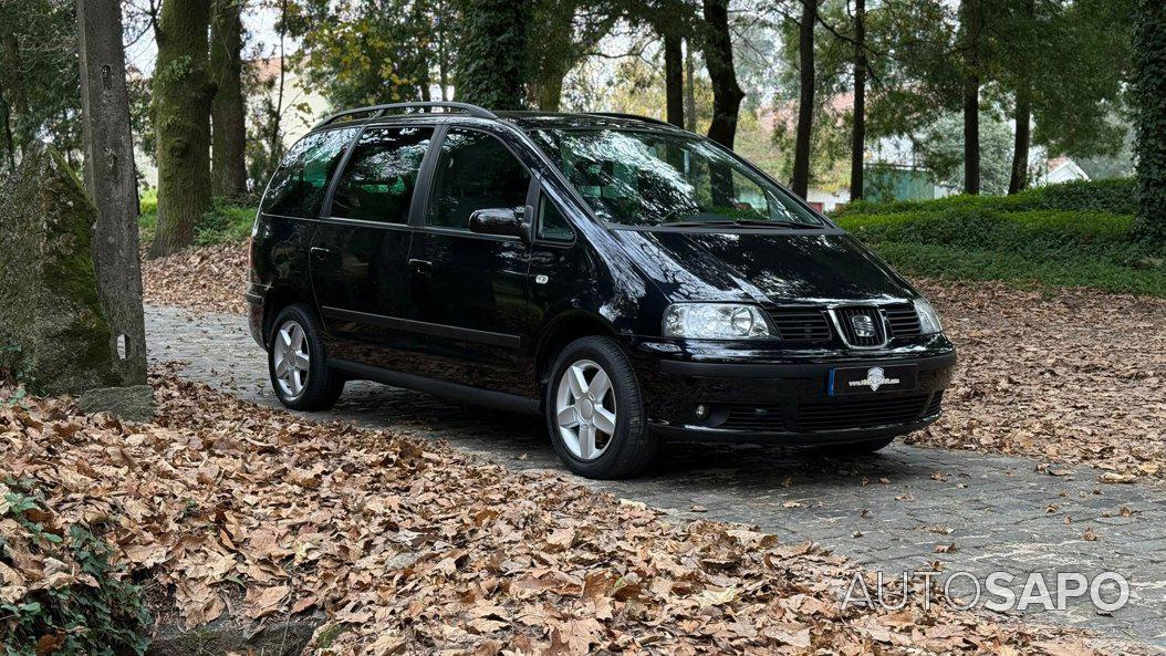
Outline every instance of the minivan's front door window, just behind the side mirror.
[[434, 171], [434, 193], [426, 225], [470, 230], [478, 210], [526, 205], [531, 174], [498, 139], [452, 128], [445, 134]]

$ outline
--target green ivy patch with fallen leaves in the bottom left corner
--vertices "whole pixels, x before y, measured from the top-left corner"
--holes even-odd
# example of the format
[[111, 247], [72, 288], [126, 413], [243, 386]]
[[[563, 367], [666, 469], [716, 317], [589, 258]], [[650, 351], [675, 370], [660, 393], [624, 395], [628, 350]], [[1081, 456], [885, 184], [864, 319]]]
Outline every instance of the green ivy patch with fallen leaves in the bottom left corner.
[[150, 616], [108, 544], [86, 527], [57, 527], [44, 500], [10, 479], [0, 484], [0, 564], [27, 584], [0, 587], [0, 653], [145, 654]]

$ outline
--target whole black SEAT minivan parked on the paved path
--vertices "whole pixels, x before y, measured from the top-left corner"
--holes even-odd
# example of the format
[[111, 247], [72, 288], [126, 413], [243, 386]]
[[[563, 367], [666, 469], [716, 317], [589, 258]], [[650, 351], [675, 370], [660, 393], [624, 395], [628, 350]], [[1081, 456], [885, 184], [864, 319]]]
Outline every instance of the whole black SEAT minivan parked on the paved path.
[[660, 439], [871, 452], [940, 414], [955, 347], [907, 281], [708, 139], [459, 103], [329, 117], [255, 221], [280, 401], [349, 380], [546, 417], [576, 473]]

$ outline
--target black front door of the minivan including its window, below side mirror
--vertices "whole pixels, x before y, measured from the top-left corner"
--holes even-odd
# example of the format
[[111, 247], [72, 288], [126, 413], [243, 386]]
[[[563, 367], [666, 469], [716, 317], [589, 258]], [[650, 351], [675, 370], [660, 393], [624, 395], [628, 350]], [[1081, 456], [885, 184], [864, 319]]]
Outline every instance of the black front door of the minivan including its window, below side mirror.
[[529, 220], [531, 174], [497, 136], [470, 128], [451, 127], [436, 156], [408, 260], [423, 375], [529, 395], [529, 245], [472, 233], [469, 224], [477, 210], [504, 207]]

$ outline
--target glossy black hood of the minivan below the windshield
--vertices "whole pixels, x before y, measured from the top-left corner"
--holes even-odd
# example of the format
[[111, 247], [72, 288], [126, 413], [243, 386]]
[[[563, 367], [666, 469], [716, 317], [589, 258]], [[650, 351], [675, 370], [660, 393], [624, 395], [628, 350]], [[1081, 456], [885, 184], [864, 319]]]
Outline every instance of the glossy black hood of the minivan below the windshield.
[[672, 302], [830, 303], [918, 295], [842, 231], [614, 232]]

